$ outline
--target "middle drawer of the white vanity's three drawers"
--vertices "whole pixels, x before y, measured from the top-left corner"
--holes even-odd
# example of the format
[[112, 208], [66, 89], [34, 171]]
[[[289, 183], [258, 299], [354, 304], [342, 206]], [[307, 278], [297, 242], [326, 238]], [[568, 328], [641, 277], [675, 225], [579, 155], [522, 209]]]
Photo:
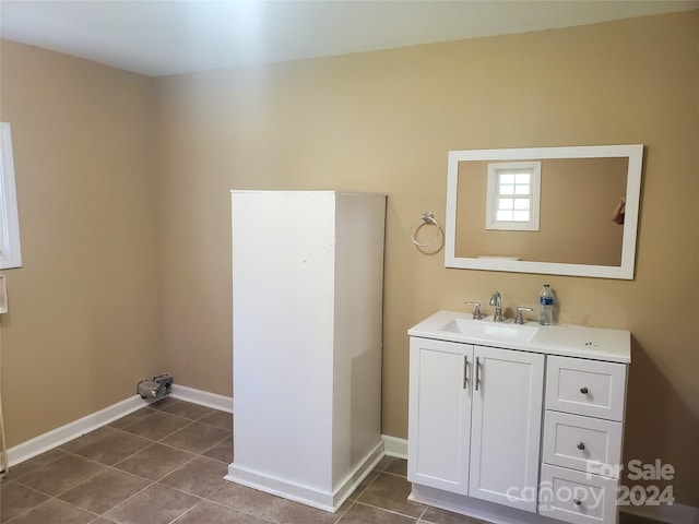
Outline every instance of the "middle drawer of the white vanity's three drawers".
[[621, 462], [621, 422], [547, 410], [543, 462], [616, 477]]

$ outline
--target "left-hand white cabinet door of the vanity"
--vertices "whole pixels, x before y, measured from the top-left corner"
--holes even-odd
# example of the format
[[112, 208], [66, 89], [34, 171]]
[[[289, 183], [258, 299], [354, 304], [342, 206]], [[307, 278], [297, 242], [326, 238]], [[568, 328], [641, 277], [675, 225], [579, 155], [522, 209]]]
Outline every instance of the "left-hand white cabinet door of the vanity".
[[473, 346], [411, 338], [407, 479], [466, 495]]

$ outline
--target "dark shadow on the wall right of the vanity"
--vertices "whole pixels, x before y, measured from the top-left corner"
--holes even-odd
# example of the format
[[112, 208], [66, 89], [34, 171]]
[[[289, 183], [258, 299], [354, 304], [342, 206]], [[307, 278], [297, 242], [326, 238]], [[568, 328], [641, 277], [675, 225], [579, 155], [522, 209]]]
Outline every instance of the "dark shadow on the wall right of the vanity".
[[[631, 340], [631, 352], [623, 484], [629, 489], [642, 486], [644, 497], [649, 500], [655, 492], [651, 486], [656, 486], [660, 493], [667, 489], [677, 503], [697, 508], [699, 491], [678, 492], [675, 486], [699, 486], [699, 453], [695, 449], [699, 442], [699, 420], [635, 337]], [[680, 433], [685, 437], [677, 439], [676, 436]], [[671, 451], [660, 456], [657, 450]], [[665, 478], [657, 478], [660, 475], [656, 474], [662, 473], [656, 467], [657, 461], [674, 468], [674, 479], [677, 481], [670, 478], [673, 474], [667, 467]], [[636, 491], [641, 492], [640, 489]], [[620, 493], [623, 497], [629, 495], [624, 490]], [[635, 500], [627, 502], [636, 505]]]

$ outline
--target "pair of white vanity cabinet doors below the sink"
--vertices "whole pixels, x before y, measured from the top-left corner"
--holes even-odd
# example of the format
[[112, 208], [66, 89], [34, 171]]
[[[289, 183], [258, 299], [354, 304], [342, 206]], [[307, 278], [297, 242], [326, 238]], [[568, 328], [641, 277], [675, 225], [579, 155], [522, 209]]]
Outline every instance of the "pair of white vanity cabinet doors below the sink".
[[412, 337], [408, 480], [535, 512], [543, 384], [543, 355]]

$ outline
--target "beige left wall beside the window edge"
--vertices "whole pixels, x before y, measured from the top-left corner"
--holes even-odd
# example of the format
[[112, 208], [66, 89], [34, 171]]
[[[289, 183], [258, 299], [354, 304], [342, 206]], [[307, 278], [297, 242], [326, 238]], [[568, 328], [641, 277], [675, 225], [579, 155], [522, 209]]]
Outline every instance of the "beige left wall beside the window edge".
[[23, 259], [0, 318], [12, 446], [132, 395], [163, 359], [152, 80], [7, 40], [0, 60]]

